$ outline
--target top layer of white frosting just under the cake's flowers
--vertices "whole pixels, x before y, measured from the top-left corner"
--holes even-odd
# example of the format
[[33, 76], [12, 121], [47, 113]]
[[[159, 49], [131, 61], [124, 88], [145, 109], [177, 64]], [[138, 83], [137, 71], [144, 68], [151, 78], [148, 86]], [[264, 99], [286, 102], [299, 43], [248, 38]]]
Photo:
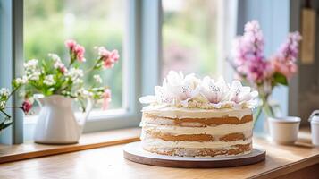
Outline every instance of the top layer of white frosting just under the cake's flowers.
[[237, 117], [241, 119], [245, 115], [251, 115], [252, 109], [199, 109], [185, 107], [167, 107], [167, 106], [147, 106], [143, 107], [142, 112], [152, 115], [171, 118], [213, 118], [213, 117]]

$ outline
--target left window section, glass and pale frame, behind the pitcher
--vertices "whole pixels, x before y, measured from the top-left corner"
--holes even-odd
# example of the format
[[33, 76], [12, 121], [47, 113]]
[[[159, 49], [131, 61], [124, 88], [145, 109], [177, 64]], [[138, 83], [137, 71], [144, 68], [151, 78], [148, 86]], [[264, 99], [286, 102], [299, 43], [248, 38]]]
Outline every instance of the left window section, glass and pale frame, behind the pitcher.
[[[105, 85], [112, 90], [112, 103], [108, 110], [102, 111], [96, 107], [91, 113], [85, 131], [100, 131], [109, 128], [119, 128], [126, 125], [138, 124], [137, 120], [130, 120], [138, 110], [135, 110], [133, 97], [134, 72], [130, 64], [134, 63], [134, 56], [130, 55], [134, 47], [129, 47], [128, 36], [134, 33], [130, 21], [135, 13], [135, 1], [126, 0], [28, 0], [24, 2], [24, 58], [46, 59], [48, 53], [67, 56], [64, 47], [65, 39], [75, 39], [86, 47], [85, 57], [94, 59], [97, 53], [95, 46], [105, 46], [108, 49], [118, 49], [120, 61], [113, 69], [101, 72]], [[130, 57], [130, 59], [128, 59]], [[83, 65], [92, 66], [87, 60]], [[93, 76], [93, 74], [91, 74]], [[130, 78], [128, 78], [130, 76]], [[92, 78], [87, 78], [89, 85]], [[133, 99], [134, 98], [134, 99]], [[35, 103], [37, 105], [37, 103]], [[74, 107], [77, 109], [78, 107]], [[27, 117], [24, 127], [25, 140], [32, 139], [37, 107], [34, 115]], [[123, 121], [127, 120], [127, 123]], [[130, 121], [129, 121], [130, 120]], [[104, 122], [101, 122], [104, 121]], [[108, 124], [112, 123], [112, 124]]]

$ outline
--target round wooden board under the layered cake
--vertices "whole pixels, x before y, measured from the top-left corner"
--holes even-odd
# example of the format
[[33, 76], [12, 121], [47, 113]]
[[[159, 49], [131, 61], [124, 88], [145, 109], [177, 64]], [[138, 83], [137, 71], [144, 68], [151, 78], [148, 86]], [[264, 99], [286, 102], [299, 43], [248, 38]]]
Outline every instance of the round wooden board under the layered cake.
[[182, 168], [214, 168], [246, 166], [264, 161], [265, 150], [256, 149], [242, 156], [216, 157], [216, 158], [189, 158], [164, 156], [150, 153], [142, 149], [140, 141], [125, 145], [124, 158], [151, 166], [182, 167]]

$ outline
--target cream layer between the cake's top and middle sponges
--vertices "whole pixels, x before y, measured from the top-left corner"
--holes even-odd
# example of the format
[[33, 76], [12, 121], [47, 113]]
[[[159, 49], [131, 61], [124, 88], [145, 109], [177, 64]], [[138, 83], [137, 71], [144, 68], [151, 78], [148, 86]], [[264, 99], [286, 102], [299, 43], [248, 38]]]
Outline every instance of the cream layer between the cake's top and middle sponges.
[[220, 124], [207, 127], [182, 127], [172, 125], [157, 125], [157, 124], [141, 124], [143, 130], [152, 132], [164, 132], [172, 135], [182, 134], [209, 134], [209, 135], [226, 135], [236, 132], [248, 132], [253, 130], [253, 122], [244, 124]]

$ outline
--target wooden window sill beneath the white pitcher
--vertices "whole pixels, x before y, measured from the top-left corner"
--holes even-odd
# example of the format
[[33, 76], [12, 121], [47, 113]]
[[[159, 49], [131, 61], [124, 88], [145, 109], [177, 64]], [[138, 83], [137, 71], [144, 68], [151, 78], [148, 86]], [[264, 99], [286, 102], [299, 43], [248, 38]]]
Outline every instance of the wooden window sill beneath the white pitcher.
[[71, 145], [43, 145], [33, 141], [18, 145], [0, 145], [0, 163], [139, 141], [139, 134], [139, 128], [130, 128], [86, 133], [81, 136], [79, 143]]

